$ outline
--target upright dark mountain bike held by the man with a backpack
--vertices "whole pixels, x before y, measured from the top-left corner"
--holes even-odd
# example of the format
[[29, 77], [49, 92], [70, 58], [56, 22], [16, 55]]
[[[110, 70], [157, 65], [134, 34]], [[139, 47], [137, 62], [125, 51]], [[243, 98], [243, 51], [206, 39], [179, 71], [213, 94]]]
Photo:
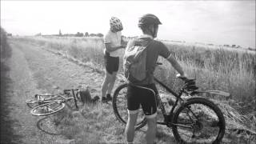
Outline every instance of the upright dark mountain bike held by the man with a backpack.
[[[225, 118], [222, 111], [214, 102], [206, 98], [194, 96], [202, 93], [223, 95], [228, 93], [218, 90], [197, 91], [198, 87], [195, 86], [195, 79], [180, 79], [182, 79], [185, 84], [178, 93], [175, 93], [174, 90], [171, 90], [168, 86], [160, 82], [158, 78], [154, 78], [155, 82], [158, 82], [158, 84], [176, 98], [175, 100], [170, 99], [169, 102], [162, 102], [161, 97], [157, 95], [158, 108], [161, 109], [163, 117], [163, 120], [158, 120], [157, 123], [169, 128], [171, 127], [174, 138], [178, 143], [220, 143], [226, 130]], [[128, 118], [126, 109], [127, 86], [127, 83], [118, 86], [118, 88], [114, 90], [113, 96], [114, 114], [118, 120], [124, 124], [126, 124]], [[187, 97], [184, 98], [184, 95]], [[169, 114], [166, 113], [165, 106], [167, 104], [172, 106]], [[140, 108], [137, 124], [135, 126], [136, 130], [146, 125], [146, 118], [142, 113], [142, 109]]]

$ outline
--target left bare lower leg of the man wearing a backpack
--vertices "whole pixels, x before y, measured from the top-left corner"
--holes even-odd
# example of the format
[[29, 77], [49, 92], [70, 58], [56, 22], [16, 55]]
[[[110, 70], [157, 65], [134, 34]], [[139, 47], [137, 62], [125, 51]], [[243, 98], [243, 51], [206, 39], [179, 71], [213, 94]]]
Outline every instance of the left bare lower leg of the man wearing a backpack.
[[134, 142], [134, 126], [136, 125], [138, 113], [128, 114], [128, 121], [126, 123], [126, 142]]

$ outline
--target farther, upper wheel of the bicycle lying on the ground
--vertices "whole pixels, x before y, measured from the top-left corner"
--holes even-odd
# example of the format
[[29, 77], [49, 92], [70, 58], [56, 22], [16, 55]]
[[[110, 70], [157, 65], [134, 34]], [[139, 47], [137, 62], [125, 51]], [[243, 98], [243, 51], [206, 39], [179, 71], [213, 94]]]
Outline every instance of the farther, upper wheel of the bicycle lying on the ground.
[[[44, 100], [52, 100], [54, 98], [58, 98], [58, 95], [40, 95], [38, 94], [38, 96], [41, 97], [45, 97]], [[40, 101], [38, 98], [36, 98], [35, 96], [29, 99], [26, 99], [26, 105], [29, 106], [30, 108], [34, 108], [35, 106], [39, 106], [43, 104], [42, 100]]]

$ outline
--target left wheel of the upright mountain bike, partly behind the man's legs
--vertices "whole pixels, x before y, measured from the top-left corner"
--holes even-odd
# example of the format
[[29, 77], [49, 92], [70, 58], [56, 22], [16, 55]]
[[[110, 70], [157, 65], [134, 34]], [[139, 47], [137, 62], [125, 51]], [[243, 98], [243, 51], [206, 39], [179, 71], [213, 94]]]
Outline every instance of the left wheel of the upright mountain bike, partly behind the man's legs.
[[[123, 124], [126, 124], [127, 118], [128, 118], [127, 106], [126, 106], [127, 86], [128, 86], [127, 83], [118, 86], [118, 88], [114, 90], [114, 96], [112, 100], [114, 115], [116, 116], [116, 118], [118, 118], [118, 121], [122, 122]], [[119, 106], [121, 102], [125, 106]], [[137, 118], [137, 124], [134, 128], [135, 130], [138, 130], [145, 125], [146, 125], [146, 118], [144, 117], [144, 114], [139, 112], [138, 118]]]

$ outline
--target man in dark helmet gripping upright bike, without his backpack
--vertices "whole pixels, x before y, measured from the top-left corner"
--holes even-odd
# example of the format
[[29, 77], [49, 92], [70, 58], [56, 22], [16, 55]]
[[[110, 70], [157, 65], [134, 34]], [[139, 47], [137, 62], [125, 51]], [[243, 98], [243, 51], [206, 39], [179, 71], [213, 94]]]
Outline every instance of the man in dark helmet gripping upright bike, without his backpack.
[[154, 68], [158, 59], [158, 55], [166, 58], [174, 69], [185, 77], [182, 67], [170, 54], [170, 50], [159, 41], [154, 40], [158, 34], [158, 25], [162, 23], [154, 14], [145, 14], [139, 18], [138, 27], [142, 30], [143, 35], [130, 40], [127, 47], [137, 45], [139, 42], [150, 41], [150, 45], [146, 48], [146, 78], [142, 82], [129, 81], [127, 89], [127, 109], [128, 121], [126, 124], [126, 141], [133, 143], [134, 141], [134, 126], [138, 117], [138, 108], [142, 105], [142, 110], [146, 115], [148, 129], [146, 131], [146, 143], [154, 143], [156, 135], [156, 116], [157, 116], [157, 100], [156, 95], [158, 90], [154, 85]]

